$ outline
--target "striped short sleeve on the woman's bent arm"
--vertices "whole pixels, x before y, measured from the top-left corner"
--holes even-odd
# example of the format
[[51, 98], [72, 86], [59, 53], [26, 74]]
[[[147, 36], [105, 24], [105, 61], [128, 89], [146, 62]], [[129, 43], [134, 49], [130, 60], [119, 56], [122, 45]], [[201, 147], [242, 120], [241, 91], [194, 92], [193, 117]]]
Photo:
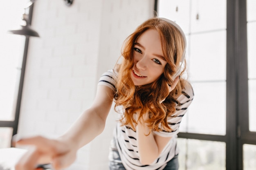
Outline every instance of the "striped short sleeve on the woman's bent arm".
[[180, 122], [185, 115], [189, 105], [193, 101], [194, 92], [191, 84], [187, 83], [184, 89], [182, 89], [182, 94], [177, 98], [176, 101], [176, 112], [167, 119], [169, 127], [172, 129], [171, 132], [167, 132], [161, 128], [160, 131], [155, 131], [154, 133], [162, 137], [173, 137], [179, 133]]

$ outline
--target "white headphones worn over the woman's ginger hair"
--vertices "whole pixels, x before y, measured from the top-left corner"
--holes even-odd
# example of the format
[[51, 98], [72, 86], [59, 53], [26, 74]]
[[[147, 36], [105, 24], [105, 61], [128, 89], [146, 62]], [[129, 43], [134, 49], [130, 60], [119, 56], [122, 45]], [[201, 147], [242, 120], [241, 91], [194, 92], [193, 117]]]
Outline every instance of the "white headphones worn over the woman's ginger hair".
[[170, 24], [175, 26], [180, 31], [180, 33], [182, 35], [182, 38], [184, 40], [184, 50], [183, 50], [182, 58], [180, 60], [180, 66], [177, 68], [177, 72], [173, 75], [173, 79], [175, 79], [182, 72], [182, 67], [183, 67], [183, 63], [184, 63], [184, 60], [185, 60], [185, 56], [186, 56], [186, 36], [185, 36], [183, 30], [180, 28], [180, 26], [178, 24], [176, 24], [175, 22], [173, 22], [171, 20], [168, 20], [166, 18], [159, 18], [159, 19], [164, 20], [166, 22], [169, 22]]

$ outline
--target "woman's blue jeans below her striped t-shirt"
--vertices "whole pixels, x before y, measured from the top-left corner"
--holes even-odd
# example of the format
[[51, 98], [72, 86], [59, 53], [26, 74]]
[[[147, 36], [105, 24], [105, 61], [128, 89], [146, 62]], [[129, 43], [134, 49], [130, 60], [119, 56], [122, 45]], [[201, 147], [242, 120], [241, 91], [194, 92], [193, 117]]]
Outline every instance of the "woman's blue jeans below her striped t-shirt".
[[[113, 139], [110, 144], [109, 159], [110, 160], [108, 165], [110, 170], [126, 170], [124, 168], [119, 152], [117, 150], [115, 139]], [[178, 155], [175, 155], [173, 159], [167, 162], [167, 165], [164, 168], [164, 170], [178, 170], [178, 169], [179, 169]]]

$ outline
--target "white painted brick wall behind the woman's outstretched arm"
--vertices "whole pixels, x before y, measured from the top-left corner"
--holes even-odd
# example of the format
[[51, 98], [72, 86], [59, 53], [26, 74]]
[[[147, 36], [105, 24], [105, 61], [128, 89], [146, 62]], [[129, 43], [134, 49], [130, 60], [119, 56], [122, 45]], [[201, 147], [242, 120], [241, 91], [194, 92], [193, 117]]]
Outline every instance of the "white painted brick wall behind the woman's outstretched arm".
[[[99, 76], [113, 68], [125, 38], [153, 16], [154, 0], [37, 0], [22, 93], [18, 134], [57, 137], [92, 104]], [[108, 169], [115, 126], [81, 148], [76, 170]], [[79, 168], [80, 167], [80, 168]]]

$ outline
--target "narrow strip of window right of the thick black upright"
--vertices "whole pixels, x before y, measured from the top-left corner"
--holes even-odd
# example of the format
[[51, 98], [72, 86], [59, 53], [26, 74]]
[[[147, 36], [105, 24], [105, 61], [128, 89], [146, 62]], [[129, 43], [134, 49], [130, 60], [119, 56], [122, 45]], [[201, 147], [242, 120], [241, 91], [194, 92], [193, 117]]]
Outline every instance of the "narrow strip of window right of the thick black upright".
[[[246, 13], [247, 15], [247, 63], [248, 63], [248, 107], [249, 115], [248, 119], [243, 121], [243, 131], [245, 133], [245, 141], [243, 142], [243, 170], [253, 170], [256, 167], [256, 1], [247, 0], [246, 3]], [[246, 56], [246, 47], [245, 47]], [[245, 81], [245, 82], [247, 82]], [[240, 116], [243, 113], [240, 114]], [[248, 122], [249, 120], [249, 122]], [[249, 125], [249, 127], [248, 127]]]

